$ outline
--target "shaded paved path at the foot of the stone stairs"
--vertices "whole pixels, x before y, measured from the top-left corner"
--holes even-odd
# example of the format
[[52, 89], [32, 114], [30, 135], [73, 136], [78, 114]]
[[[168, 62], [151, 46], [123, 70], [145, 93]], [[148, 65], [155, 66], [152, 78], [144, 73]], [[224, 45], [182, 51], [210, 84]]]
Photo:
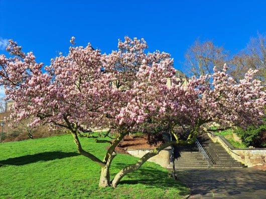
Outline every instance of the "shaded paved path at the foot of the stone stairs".
[[266, 171], [254, 168], [177, 170], [192, 190], [190, 198], [266, 198]]

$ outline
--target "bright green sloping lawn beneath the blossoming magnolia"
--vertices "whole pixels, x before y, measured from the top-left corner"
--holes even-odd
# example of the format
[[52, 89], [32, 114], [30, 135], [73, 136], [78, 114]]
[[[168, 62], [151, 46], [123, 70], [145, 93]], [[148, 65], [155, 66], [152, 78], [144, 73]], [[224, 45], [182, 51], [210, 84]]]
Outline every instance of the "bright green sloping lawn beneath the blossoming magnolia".
[[[81, 142], [103, 158], [106, 144]], [[0, 198], [180, 198], [189, 191], [152, 162], [122, 178], [117, 188], [99, 188], [99, 166], [77, 153], [71, 135], [2, 143], [0, 152]], [[137, 160], [117, 154], [111, 176]]]

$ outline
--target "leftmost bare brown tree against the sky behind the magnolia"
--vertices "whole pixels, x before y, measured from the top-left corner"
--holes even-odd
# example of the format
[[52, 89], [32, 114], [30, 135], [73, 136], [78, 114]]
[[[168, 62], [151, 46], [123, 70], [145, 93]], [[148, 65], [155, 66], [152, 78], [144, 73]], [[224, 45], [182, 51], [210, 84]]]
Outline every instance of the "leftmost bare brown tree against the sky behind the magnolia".
[[188, 72], [199, 77], [213, 72], [213, 67], [222, 68], [229, 58], [229, 51], [222, 46], [214, 45], [213, 41], [201, 42], [197, 39], [185, 53], [185, 65]]

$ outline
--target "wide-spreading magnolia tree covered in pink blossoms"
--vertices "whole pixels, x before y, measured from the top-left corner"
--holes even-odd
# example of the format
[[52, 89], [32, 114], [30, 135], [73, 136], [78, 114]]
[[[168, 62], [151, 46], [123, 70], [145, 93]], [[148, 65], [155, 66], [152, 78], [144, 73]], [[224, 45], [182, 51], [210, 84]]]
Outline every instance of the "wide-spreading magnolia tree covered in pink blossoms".
[[[66, 129], [80, 154], [100, 166], [101, 187], [116, 187], [125, 174], [171, 144], [193, 142], [201, 126], [209, 122], [225, 128], [245, 127], [259, 123], [263, 116], [266, 95], [260, 82], [252, 79], [254, 70], [236, 83], [225, 65], [223, 71], [214, 68], [213, 74], [192, 77], [182, 86], [176, 80], [170, 54], [146, 53], [144, 39], [125, 37], [118, 42], [118, 50], [108, 55], [90, 44], [76, 47], [74, 37], [70, 42], [67, 56], [51, 59], [44, 67], [32, 52], [24, 53], [10, 40], [7, 50], [13, 56], [0, 55], [0, 81], [7, 96], [15, 100], [12, 119], [32, 118], [30, 126], [49, 123]], [[169, 79], [171, 86], [167, 85]], [[155, 126], [173, 134], [175, 140], [162, 143], [110, 179], [110, 165], [122, 138]], [[178, 126], [189, 126], [185, 139], [176, 133]], [[109, 130], [98, 134], [89, 130], [104, 128]], [[84, 150], [80, 137], [110, 144], [104, 158]]]

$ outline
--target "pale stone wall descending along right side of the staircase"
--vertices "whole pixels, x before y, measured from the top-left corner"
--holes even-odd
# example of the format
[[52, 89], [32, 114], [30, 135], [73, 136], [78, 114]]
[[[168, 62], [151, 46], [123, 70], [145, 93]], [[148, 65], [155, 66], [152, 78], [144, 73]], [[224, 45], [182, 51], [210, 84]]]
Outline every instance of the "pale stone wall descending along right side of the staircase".
[[220, 143], [227, 152], [236, 160], [241, 161], [248, 167], [255, 165], [263, 165], [263, 158], [266, 157], [266, 148], [235, 148], [222, 135], [209, 137], [214, 141]]

